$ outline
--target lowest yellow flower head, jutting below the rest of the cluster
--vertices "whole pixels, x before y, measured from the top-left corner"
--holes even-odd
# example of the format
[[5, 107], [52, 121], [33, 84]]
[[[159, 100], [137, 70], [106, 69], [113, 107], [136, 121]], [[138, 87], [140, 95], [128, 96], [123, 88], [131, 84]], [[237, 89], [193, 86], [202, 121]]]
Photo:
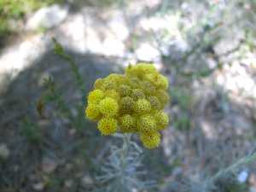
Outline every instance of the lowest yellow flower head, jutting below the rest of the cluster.
[[140, 134], [140, 139], [145, 148], [156, 148], [160, 144], [160, 133], [158, 131], [143, 132]]

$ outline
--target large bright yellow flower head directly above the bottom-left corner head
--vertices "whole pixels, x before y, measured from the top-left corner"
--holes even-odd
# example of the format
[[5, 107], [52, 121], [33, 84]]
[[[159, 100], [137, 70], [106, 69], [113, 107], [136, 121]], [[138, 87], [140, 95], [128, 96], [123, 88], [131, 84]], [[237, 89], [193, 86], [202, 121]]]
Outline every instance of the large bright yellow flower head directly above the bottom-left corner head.
[[99, 110], [104, 115], [113, 116], [118, 113], [119, 105], [113, 98], [106, 97], [99, 103]]

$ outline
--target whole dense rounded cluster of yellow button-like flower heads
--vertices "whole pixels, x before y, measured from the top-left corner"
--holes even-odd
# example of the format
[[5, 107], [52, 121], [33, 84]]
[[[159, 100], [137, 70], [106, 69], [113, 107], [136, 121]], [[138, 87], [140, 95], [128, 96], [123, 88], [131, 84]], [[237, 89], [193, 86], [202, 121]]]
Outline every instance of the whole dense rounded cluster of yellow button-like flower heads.
[[169, 124], [162, 110], [169, 102], [168, 80], [153, 64], [129, 66], [125, 74], [97, 79], [88, 96], [85, 116], [98, 122], [102, 135], [137, 133], [146, 148], [160, 144], [160, 131]]

